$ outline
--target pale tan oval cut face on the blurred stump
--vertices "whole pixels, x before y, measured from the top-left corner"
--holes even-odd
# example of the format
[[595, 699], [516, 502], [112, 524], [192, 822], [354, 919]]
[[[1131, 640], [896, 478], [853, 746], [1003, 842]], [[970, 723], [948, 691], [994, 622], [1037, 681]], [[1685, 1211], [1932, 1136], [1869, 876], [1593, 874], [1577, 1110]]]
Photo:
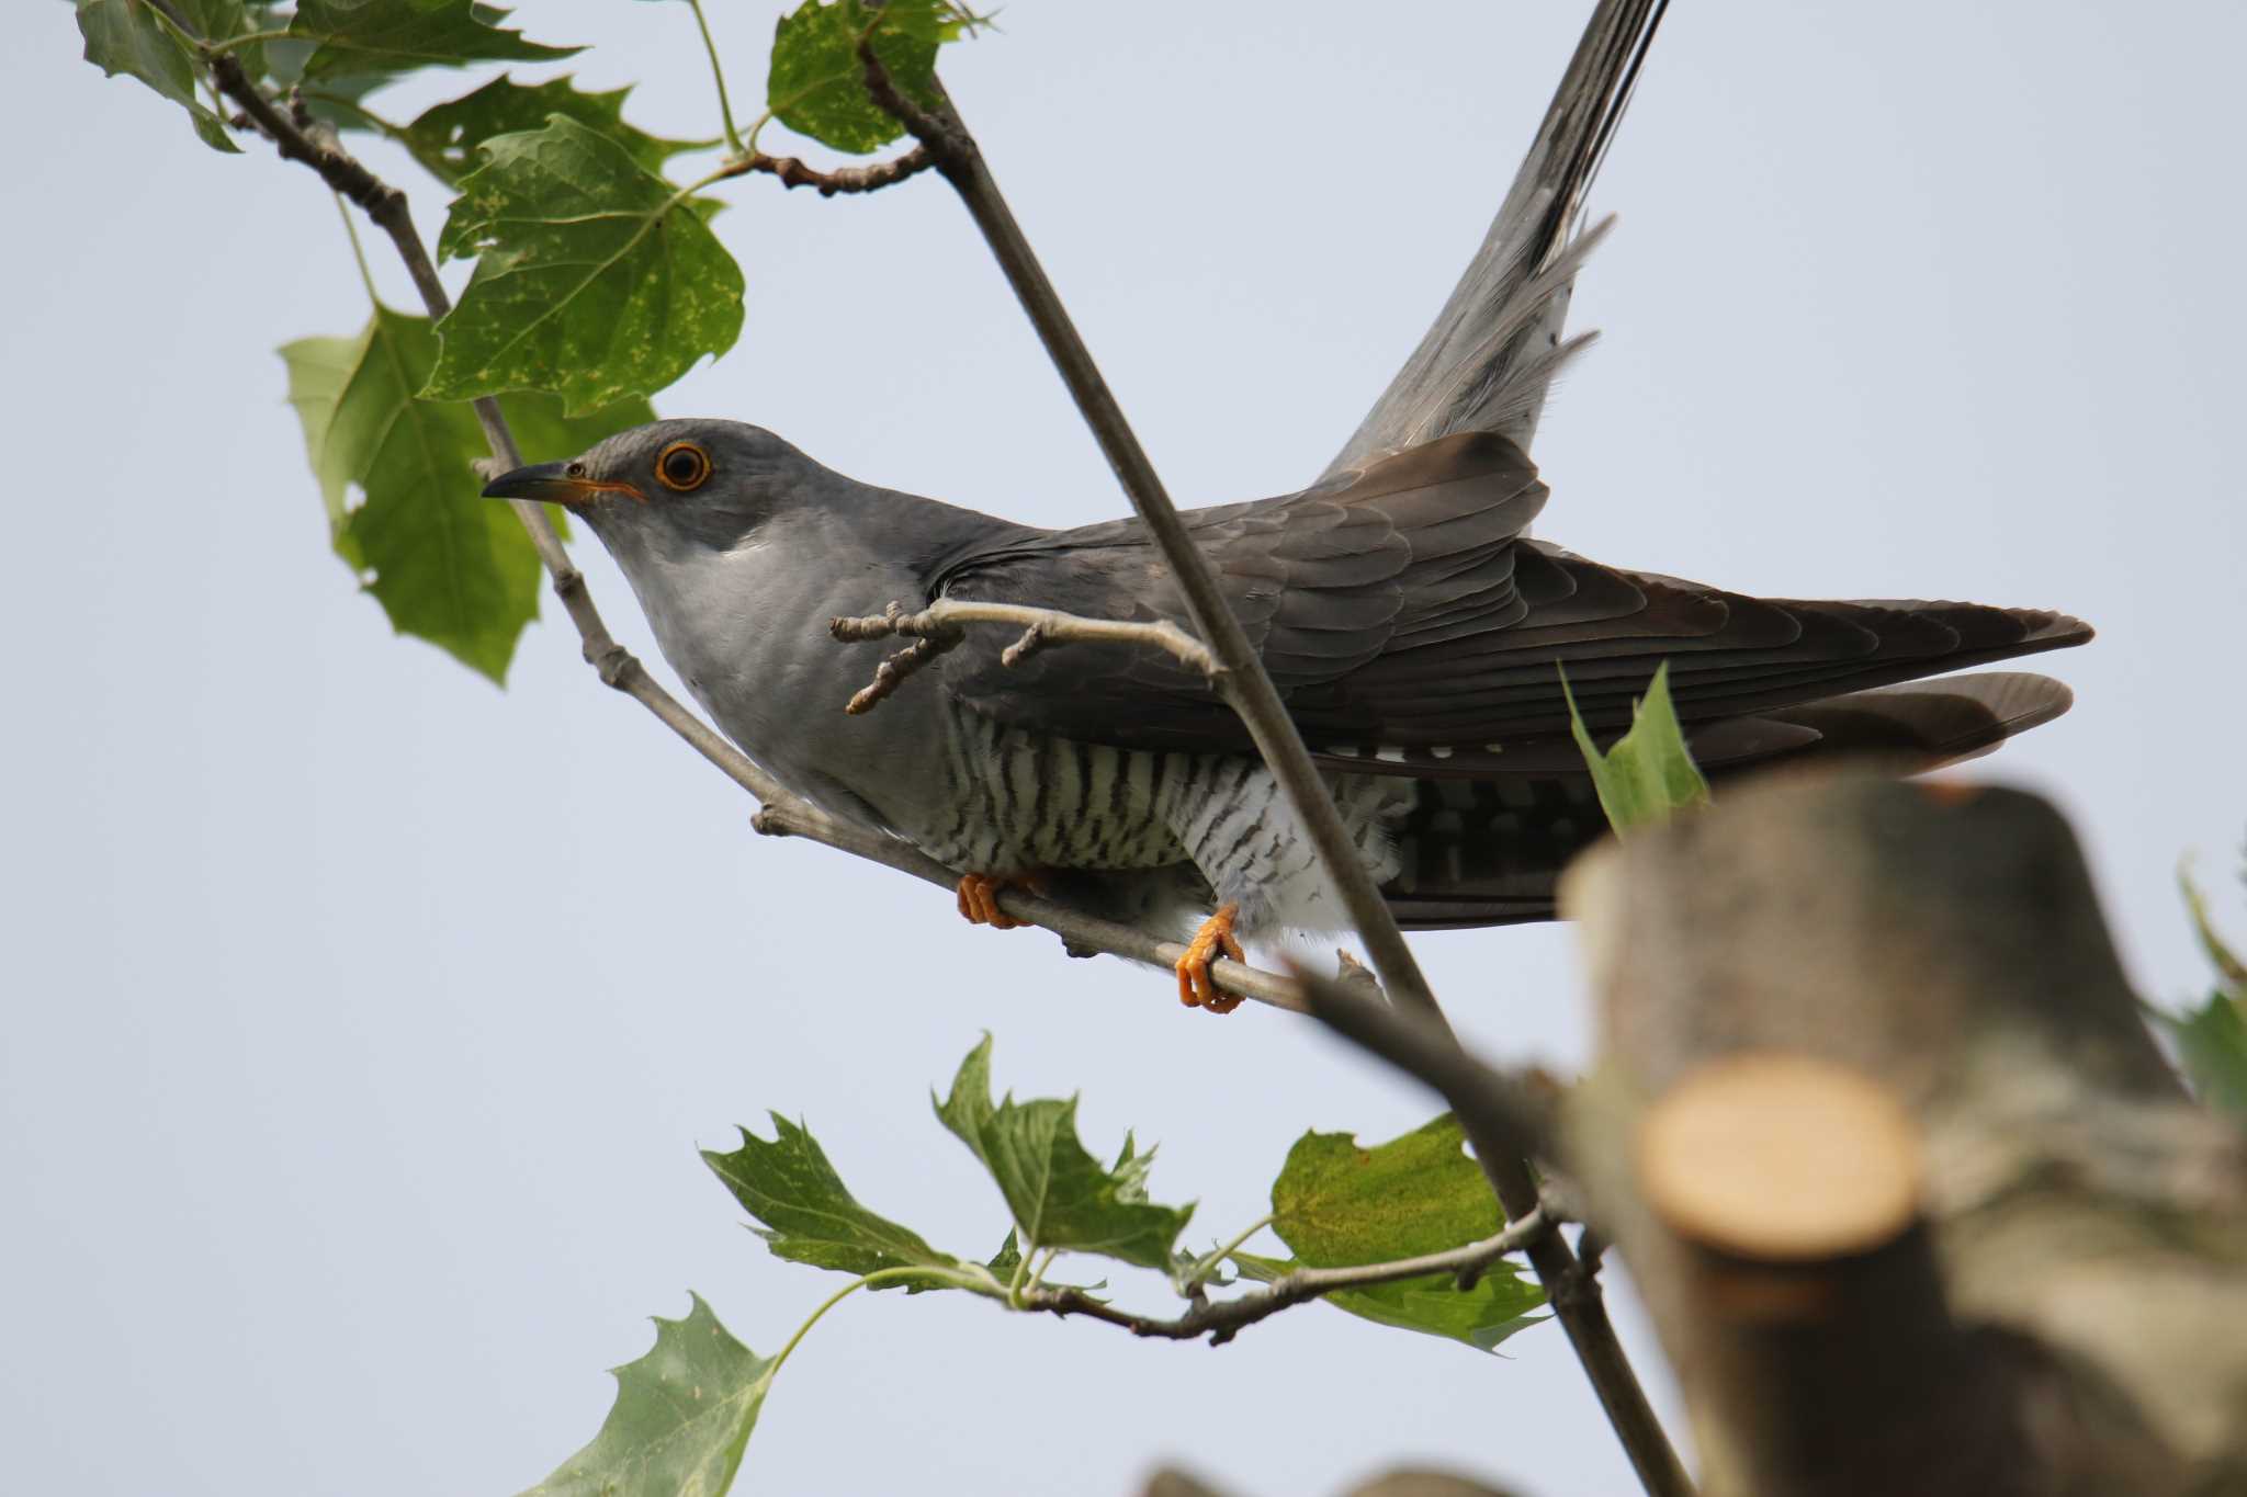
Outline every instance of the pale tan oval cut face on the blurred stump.
[[1919, 1214], [1919, 1138], [1863, 1075], [1737, 1055], [1687, 1075], [1638, 1127], [1647, 1203], [1683, 1239], [1766, 1264], [1872, 1252]]

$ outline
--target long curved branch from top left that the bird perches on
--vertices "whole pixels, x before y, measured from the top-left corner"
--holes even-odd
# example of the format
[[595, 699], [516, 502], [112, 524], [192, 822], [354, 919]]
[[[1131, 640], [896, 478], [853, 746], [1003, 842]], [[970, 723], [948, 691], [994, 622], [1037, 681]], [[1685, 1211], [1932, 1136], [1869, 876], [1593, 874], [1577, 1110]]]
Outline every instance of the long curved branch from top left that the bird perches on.
[[[184, 36], [195, 36], [175, 0], [151, 0], [151, 4], [155, 4], [166, 20], [180, 27]], [[256, 88], [234, 56], [213, 52], [209, 43], [202, 43], [200, 38], [198, 47], [211, 67], [211, 79], [218, 90], [243, 108], [243, 114], [274, 141], [274, 148], [285, 162], [299, 162], [319, 173], [321, 182], [348, 198], [382, 227], [382, 231], [391, 238], [391, 245], [398, 247], [398, 258], [413, 278], [422, 307], [427, 307], [429, 316], [445, 316], [452, 310], [452, 299], [445, 294], [445, 285], [436, 276], [436, 265], [429, 260], [429, 251], [422, 247], [420, 233], [413, 229], [407, 195], [371, 173], [339, 144], [324, 137], [312, 121], [297, 121], [283, 112]], [[874, 173], [885, 168], [872, 166], [852, 171]], [[501, 413], [499, 402], [481, 397], [474, 402], [474, 411], [476, 420], [483, 424], [483, 435], [492, 449], [492, 458], [508, 469], [521, 467], [524, 453], [515, 444], [515, 433], [508, 426], [508, 417]], [[703, 723], [690, 707], [665, 691], [663, 685], [647, 673], [647, 667], [643, 667], [640, 660], [609, 633], [607, 622], [600, 617], [600, 608], [593, 604], [593, 597], [584, 586], [584, 575], [575, 568], [575, 563], [571, 563], [568, 552], [562, 548], [562, 539], [546, 518], [546, 509], [526, 500], [515, 500], [512, 507], [524, 530], [530, 532], [539, 561], [553, 579], [555, 597], [562, 599], [562, 608], [568, 613], [568, 619], [577, 631], [586, 664], [600, 673], [602, 685], [613, 687], [647, 707], [658, 723], [685, 738], [685, 743], [717, 765], [726, 779], [757, 797], [764, 806], [750, 819], [750, 826], [766, 835], [804, 837], [807, 842], [818, 842], [840, 853], [852, 853], [888, 869], [910, 873], [941, 889], [950, 889], [957, 882], [950, 869], [921, 855], [906, 842], [852, 821], [843, 821], [804, 801], [771, 774], [759, 770], [755, 761], [737, 750], [724, 734]], [[1038, 925], [1061, 936], [1063, 945], [1074, 956], [1108, 954], [1173, 967], [1177, 965], [1177, 958], [1186, 954], [1186, 947], [1175, 940], [1159, 940], [1148, 931], [1079, 913], [1065, 904], [1056, 904], [1054, 900], [1038, 898], [1027, 889], [1000, 889], [998, 904], [1016, 920]], [[1258, 1003], [1297, 1012], [1303, 1008], [1301, 988], [1292, 979], [1276, 972], [1263, 972], [1236, 961], [1218, 961], [1211, 965], [1211, 979], [1225, 992], [1243, 999], [1256, 999]]]

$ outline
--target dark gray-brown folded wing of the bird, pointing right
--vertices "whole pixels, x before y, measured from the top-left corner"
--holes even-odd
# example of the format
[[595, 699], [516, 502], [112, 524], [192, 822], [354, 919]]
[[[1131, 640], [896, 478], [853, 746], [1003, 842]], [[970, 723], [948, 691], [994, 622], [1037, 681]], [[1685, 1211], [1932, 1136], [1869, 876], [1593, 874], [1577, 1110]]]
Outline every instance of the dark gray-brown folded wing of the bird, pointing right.
[[[1726, 718], [2090, 637], [2029, 608], [1755, 599], [1607, 568], [1523, 539], [1544, 498], [1512, 442], [1463, 433], [1186, 521], [1312, 752], [1391, 772], [1528, 765], [1537, 741], [1568, 732], [1562, 671], [1584, 720], [1620, 729], [1667, 660], [1679, 716], [1717, 752]], [[950, 561], [930, 593], [1186, 624], [1137, 521], [1009, 536]], [[941, 664], [944, 687], [991, 718], [1121, 747], [1247, 747], [1209, 685], [1159, 651], [1070, 644], [1009, 669], [1002, 644], [975, 637]], [[1728, 729], [1757, 752], [1813, 732]]]

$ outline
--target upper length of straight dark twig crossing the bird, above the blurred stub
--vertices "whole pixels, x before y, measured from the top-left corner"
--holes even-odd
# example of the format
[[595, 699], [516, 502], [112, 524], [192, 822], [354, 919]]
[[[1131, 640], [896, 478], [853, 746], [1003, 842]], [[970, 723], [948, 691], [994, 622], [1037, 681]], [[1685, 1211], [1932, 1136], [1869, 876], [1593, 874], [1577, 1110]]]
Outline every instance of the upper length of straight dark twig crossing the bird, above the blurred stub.
[[930, 112], [908, 99], [890, 79], [890, 70], [883, 67], [872, 43], [858, 45], [858, 61], [865, 67], [865, 85], [874, 103], [888, 110], [928, 148], [937, 162], [937, 171], [953, 184], [975, 227], [982, 229], [984, 242], [1007, 274], [1007, 283], [1020, 299], [1022, 312], [1029, 314], [1031, 325], [1038, 330], [1038, 339], [1061, 370], [1063, 384], [1070, 386], [1070, 397], [1083, 413], [1085, 424], [1092, 426], [1092, 435], [1099, 440], [1108, 465], [1130, 496], [1132, 509], [1139, 512], [1164, 561], [1171, 563], [1171, 572], [1186, 597], [1193, 631], [1207, 642], [1220, 667], [1216, 685], [1249, 729], [1256, 752], [1263, 754], [1265, 765], [1288, 797], [1290, 810], [1294, 810], [1297, 821], [1319, 853], [1319, 862], [1335, 893], [1341, 898], [1350, 925], [1357, 927], [1359, 938], [1366, 943], [1366, 954], [1373, 958], [1373, 970], [1380, 972], [1382, 985], [1400, 1001], [1413, 1003], [1440, 1019], [1443, 1010], [1436, 1008], [1436, 997], [1420, 974], [1420, 963], [1404, 943], [1404, 931], [1389, 911], [1380, 887], [1375, 887], [1373, 875], [1359, 860], [1357, 842], [1344, 826], [1341, 810], [1326, 790], [1326, 779], [1310, 761], [1310, 750], [1303, 747], [1303, 734], [1297, 732], [1294, 718], [1288, 716], [1288, 707], [1272, 687], [1256, 646], [1249, 644], [1240, 619], [1234, 617], [1231, 606], [1225, 601], [1209, 559], [1202, 557], [1200, 548], [1186, 534], [1186, 525], [1162, 487], [1155, 465], [1148, 462], [1130, 422], [1124, 420], [1124, 408], [1117, 406], [1108, 382], [1092, 361], [1092, 352], [1076, 332], [1076, 323], [1070, 321], [1070, 312], [1054, 292], [1054, 283], [1047, 281], [1045, 267], [1022, 236], [1022, 227], [1013, 220], [1013, 211], [998, 191], [991, 168], [984, 166], [975, 137], [968, 135], [959, 121], [959, 112], [948, 101], [941, 105], [941, 112]]

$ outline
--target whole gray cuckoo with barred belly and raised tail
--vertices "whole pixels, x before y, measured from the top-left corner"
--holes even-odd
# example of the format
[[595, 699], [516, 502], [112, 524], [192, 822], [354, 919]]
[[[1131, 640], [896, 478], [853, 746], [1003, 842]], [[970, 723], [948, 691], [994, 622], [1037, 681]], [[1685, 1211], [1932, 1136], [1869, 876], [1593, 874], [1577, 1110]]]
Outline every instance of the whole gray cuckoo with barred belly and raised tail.
[[[1600, 566], [1530, 539], [1526, 447], [1555, 370], [1584, 189], [1658, 7], [1593, 16], [1474, 263], [1373, 413], [1308, 489], [1186, 514], [1409, 929], [1553, 913], [1566, 860], [1604, 828], [1568, 736], [1562, 669], [1595, 734], [1670, 662], [1712, 779], [1852, 752], [1914, 772], [2069, 705], [2043, 676], [1896, 682], [2060, 649], [2060, 613], [1944, 601], [1757, 599]], [[568, 505], [631, 581], [656, 642], [771, 774], [959, 871], [1038, 880], [1184, 936], [1180, 997], [1225, 1012], [1218, 952], [1344, 925], [1308, 839], [1209, 685], [1168, 655], [1065, 644], [1000, 664], [975, 635], [879, 711], [836, 617], [939, 597], [1106, 619], [1186, 608], [1139, 521], [1040, 530], [822, 467], [771, 431], [665, 420], [494, 480]]]

